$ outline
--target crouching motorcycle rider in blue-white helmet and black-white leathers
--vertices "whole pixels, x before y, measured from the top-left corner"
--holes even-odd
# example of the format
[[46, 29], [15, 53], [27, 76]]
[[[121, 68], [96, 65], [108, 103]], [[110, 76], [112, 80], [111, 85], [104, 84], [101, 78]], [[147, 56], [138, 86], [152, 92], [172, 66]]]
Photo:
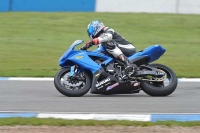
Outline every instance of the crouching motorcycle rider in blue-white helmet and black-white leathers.
[[92, 21], [88, 24], [87, 33], [91, 41], [86, 43], [84, 48], [101, 43], [105, 46], [108, 53], [123, 62], [126, 73], [135, 72], [136, 66], [131, 64], [129, 59], [124, 55], [125, 52], [122, 52], [126, 51], [126, 53], [129, 55], [134, 54], [136, 49], [133, 44], [125, 40], [112, 28], [105, 27], [104, 24], [99, 20]]

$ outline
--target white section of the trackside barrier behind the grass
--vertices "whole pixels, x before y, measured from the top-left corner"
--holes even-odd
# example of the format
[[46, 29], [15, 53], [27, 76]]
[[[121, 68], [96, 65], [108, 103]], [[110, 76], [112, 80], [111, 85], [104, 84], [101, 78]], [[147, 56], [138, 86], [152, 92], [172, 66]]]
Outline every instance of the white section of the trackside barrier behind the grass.
[[96, 12], [200, 14], [200, 0], [96, 0]]

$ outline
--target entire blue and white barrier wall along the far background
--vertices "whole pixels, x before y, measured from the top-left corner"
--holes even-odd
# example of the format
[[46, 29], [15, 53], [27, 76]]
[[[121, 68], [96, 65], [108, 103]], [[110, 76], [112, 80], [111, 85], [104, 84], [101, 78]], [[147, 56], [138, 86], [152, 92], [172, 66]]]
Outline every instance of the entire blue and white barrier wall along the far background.
[[0, 0], [0, 12], [139, 12], [200, 14], [199, 0]]

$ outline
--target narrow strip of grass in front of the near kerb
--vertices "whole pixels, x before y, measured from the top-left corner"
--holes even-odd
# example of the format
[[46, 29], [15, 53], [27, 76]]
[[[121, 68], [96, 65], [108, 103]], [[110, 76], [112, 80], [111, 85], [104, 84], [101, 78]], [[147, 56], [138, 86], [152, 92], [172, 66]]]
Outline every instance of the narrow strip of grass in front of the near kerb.
[[138, 122], [138, 121], [118, 121], [118, 120], [64, 120], [64, 119], [53, 119], [53, 118], [1, 118], [0, 126], [14, 126], [14, 125], [47, 125], [47, 126], [183, 126], [192, 127], [200, 126], [200, 121], [193, 122], [177, 122], [177, 121], [158, 121], [158, 122]]

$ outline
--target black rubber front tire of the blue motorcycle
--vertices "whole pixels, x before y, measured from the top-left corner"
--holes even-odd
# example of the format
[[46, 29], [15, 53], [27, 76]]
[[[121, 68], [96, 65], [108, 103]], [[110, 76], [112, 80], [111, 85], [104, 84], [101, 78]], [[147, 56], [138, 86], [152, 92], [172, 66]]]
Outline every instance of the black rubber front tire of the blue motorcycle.
[[70, 87], [69, 85], [65, 85], [63, 83], [63, 80], [65, 80], [64, 76], [66, 77], [68, 73], [70, 73], [70, 68], [62, 68], [57, 72], [57, 74], [54, 77], [54, 85], [56, 89], [61, 94], [68, 97], [80, 97], [80, 96], [85, 95], [90, 90], [91, 83], [92, 83], [89, 75], [86, 72], [83, 72], [85, 80], [82, 81], [81, 83], [82, 87], [80, 88], [78, 86], [78, 87], [74, 87], [78, 89], [72, 89], [73, 87]]

